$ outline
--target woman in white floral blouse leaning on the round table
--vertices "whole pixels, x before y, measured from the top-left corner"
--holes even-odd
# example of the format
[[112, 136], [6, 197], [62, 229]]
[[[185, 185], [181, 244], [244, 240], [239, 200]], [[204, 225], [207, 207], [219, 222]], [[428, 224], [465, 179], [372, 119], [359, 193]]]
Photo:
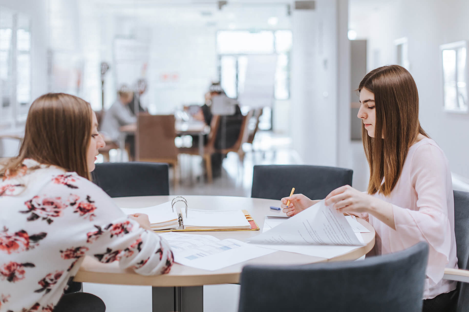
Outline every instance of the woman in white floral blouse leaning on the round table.
[[31, 104], [19, 155], [0, 169], [1, 311], [70, 311], [78, 293], [62, 295], [85, 255], [142, 275], [169, 272], [173, 253], [148, 216], [125, 215], [90, 181], [105, 145], [97, 128], [76, 96], [45, 94]]

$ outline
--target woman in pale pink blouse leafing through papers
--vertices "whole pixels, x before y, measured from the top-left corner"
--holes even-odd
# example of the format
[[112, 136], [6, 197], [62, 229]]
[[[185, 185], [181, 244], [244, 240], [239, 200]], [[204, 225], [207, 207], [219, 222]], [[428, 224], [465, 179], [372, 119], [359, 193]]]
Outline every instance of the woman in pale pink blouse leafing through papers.
[[[423, 311], [451, 311], [456, 282], [442, 279], [445, 268], [457, 268], [451, 172], [444, 152], [420, 126], [416, 83], [405, 68], [389, 65], [366, 74], [358, 91], [368, 190], [343, 186], [326, 196], [325, 204], [369, 219], [376, 254], [426, 241]], [[287, 216], [318, 202], [302, 194], [281, 201]]]

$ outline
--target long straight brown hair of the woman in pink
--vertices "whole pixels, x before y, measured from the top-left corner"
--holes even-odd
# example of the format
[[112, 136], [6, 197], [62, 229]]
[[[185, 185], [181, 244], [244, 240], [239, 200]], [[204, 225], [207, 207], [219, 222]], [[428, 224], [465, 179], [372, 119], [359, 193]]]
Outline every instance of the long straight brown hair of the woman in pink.
[[379, 191], [389, 196], [399, 180], [409, 147], [419, 133], [428, 137], [418, 121], [417, 86], [404, 67], [388, 65], [367, 73], [358, 91], [363, 88], [374, 94], [376, 110], [374, 138], [362, 125], [363, 149], [370, 166], [368, 194]]

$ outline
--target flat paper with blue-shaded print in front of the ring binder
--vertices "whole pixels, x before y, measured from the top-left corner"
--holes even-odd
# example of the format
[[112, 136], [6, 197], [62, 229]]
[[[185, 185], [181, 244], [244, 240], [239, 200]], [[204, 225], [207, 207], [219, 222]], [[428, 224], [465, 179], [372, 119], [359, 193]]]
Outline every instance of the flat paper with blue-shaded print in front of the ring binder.
[[175, 262], [209, 271], [275, 252], [271, 248], [257, 247], [236, 239], [219, 240], [210, 235], [177, 232], [159, 235], [171, 246]]

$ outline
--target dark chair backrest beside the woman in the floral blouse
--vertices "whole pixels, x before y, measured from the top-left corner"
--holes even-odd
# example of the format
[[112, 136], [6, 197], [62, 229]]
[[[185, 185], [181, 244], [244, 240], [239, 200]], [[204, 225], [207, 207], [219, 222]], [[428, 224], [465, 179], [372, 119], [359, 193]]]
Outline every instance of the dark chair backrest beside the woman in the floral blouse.
[[167, 164], [107, 162], [96, 164], [92, 177], [111, 197], [169, 195]]

